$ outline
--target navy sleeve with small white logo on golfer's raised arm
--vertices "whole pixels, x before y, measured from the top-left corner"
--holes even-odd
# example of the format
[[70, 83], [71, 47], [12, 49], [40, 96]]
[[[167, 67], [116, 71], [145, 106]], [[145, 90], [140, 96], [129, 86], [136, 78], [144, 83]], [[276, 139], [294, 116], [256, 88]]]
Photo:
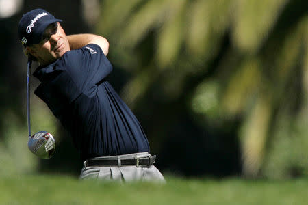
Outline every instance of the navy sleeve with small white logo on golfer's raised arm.
[[65, 69], [81, 92], [87, 92], [103, 81], [112, 71], [112, 65], [101, 47], [88, 44], [63, 55], [60, 67]]

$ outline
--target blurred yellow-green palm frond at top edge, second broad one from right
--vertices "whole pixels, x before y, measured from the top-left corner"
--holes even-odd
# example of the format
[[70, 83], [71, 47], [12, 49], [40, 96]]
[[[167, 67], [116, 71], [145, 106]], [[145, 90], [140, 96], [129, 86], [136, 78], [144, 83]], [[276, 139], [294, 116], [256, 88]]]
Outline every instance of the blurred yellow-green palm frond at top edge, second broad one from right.
[[209, 59], [216, 54], [220, 40], [230, 23], [229, 0], [194, 1], [188, 9], [188, 51]]

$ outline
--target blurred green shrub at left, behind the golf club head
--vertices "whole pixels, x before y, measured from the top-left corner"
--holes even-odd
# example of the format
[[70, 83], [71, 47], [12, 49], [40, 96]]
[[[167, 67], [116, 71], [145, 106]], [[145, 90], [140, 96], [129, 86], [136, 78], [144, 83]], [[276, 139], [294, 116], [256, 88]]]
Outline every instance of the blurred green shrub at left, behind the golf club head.
[[[56, 121], [47, 107], [38, 98], [31, 102], [31, 135], [38, 131], [49, 131], [57, 142]], [[34, 109], [35, 107], [35, 109]], [[27, 122], [21, 122], [14, 111], [3, 113], [5, 133], [0, 143], [0, 175], [33, 173], [38, 171], [39, 159], [27, 148]]]

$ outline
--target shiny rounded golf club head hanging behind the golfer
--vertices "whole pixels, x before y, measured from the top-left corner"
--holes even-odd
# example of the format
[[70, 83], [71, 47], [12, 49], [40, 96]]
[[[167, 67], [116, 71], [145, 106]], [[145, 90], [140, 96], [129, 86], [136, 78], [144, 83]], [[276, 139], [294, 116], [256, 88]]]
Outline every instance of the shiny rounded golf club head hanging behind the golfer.
[[55, 153], [55, 139], [51, 133], [40, 131], [29, 137], [29, 150], [42, 159], [49, 159]]

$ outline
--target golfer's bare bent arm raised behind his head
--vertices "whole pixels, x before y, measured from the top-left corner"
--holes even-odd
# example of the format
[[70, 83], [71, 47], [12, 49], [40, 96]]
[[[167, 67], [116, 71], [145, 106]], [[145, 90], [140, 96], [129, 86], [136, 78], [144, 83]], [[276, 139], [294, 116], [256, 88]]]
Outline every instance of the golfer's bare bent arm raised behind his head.
[[97, 36], [94, 34], [74, 34], [66, 36], [68, 42], [70, 44], [70, 49], [80, 49], [87, 44], [97, 44], [103, 50], [103, 53], [107, 56], [109, 51], [109, 42], [107, 39], [103, 38], [102, 36]]

